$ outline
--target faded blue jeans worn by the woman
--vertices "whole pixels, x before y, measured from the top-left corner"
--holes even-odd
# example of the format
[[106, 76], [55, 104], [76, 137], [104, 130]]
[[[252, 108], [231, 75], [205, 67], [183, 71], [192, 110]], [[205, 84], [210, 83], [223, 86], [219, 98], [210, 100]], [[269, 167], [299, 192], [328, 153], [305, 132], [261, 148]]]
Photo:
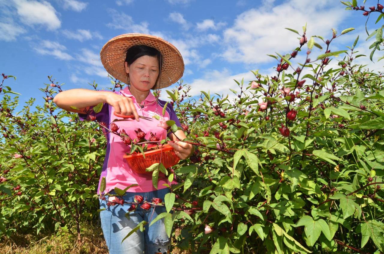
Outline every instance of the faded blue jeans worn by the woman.
[[[123, 196], [126, 202], [135, 202], [134, 196], [140, 195], [151, 202], [152, 198], [161, 198], [164, 201], [164, 196], [169, 193], [169, 189], [161, 189], [151, 192], [126, 192]], [[110, 191], [111, 194], [116, 194]], [[110, 197], [111, 200], [113, 197]], [[125, 214], [131, 204], [107, 206], [108, 197], [106, 200], [100, 200], [100, 208], [105, 208], [100, 212], [101, 228], [103, 229], [104, 238], [110, 254], [169, 254], [171, 247], [171, 239], [167, 236], [164, 218], [159, 219], [150, 227], [145, 225], [144, 232], [137, 230], [131, 234], [123, 242], [122, 239], [137, 226], [141, 221], [150, 223], [150, 219], [155, 219], [158, 214], [166, 212], [165, 206], [151, 207], [144, 210], [137, 205], [136, 211], [129, 213], [128, 219]], [[152, 215], [153, 213], [153, 215]], [[152, 217], [152, 218], [151, 218]]]

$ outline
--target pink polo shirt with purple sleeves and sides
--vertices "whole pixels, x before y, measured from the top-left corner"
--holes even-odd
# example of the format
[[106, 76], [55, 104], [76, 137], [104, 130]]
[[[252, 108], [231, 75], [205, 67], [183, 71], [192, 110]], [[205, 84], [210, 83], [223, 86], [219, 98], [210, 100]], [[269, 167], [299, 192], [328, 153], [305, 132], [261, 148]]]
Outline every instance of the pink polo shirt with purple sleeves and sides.
[[[140, 119], [139, 122], [136, 120], [127, 120], [127, 121], [118, 121], [115, 122], [118, 125], [120, 132], [121, 130], [125, 130], [126, 133], [132, 138], [136, 138], [135, 130], [140, 128], [143, 132], [146, 133], [146, 139], [149, 139], [151, 136], [151, 132], [156, 135], [156, 137], [160, 139], [166, 139], [167, 130], [158, 126], [160, 125], [160, 121], [152, 118], [153, 115], [162, 115], [163, 107], [166, 104], [165, 101], [158, 100], [156, 102], [155, 96], [149, 92], [147, 98], [141, 102], [144, 106], [139, 106], [137, 104], [135, 97], [131, 94], [128, 87], [123, 90], [115, 91], [116, 94], [124, 95], [127, 97], [131, 97], [136, 107], [136, 111], [139, 115], [150, 117], [152, 121]], [[89, 112], [89, 114], [79, 114], [79, 117], [84, 120], [89, 117], [89, 115], [93, 115], [96, 117], [96, 120], [99, 122], [104, 122], [109, 125], [113, 122], [114, 119], [121, 119], [121, 117], [116, 117], [114, 114], [114, 108], [109, 104], [104, 103], [103, 108], [99, 113], [94, 113], [93, 110]], [[174, 120], [177, 126], [181, 126], [179, 119], [171, 106], [168, 104], [166, 107], [166, 111], [164, 114], [164, 120]], [[156, 190], [152, 185], [152, 174], [139, 174], [131, 170], [126, 160], [123, 156], [126, 153], [129, 153], [130, 146], [126, 146], [124, 142], [122, 142], [121, 138], [113, 133], [106, 132], [104, 133], [107, 139], [107, 150], [104, 159], [103, 170], [101, 172], [99, 187], [101, 178], [105, 176], [106, 178], [106, 189], [105, 193], [113, 188], [118, 187], [120, 189], [124, 189], [129, 185], [138, 184], [139, 186], [129, 188], [129, 192], [148, 192]], [[167, 188], [163, 186], [164, 183], [170, 185], [167, 177], [163, 174], [159, 174], [159, 182], [158, 188], [164, 189]], [[172, 181], [172, 184], [177, 184], [176, 181]], [[99, 190], [98, 187], [98, 190]], [[99, 194], [99, 191], [98, 191]]]

